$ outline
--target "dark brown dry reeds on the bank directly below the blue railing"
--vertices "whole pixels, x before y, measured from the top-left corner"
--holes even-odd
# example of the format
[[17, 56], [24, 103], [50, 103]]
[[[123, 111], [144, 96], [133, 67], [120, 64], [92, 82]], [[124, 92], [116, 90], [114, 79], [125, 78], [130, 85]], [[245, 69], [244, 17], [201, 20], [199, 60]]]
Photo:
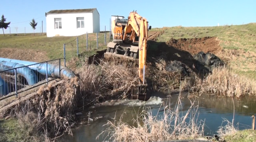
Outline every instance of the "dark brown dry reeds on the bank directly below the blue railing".
[[[47, 87], [44, 91], [43, 88]], [[79, 102], [78, 78], [66, 80], [57, 88], [52, 84], [42, 86], [30, 100], [8, 109], [3, 115], [12, 115], [19, 120], [22, 129], [27, 130], [26, 141], [54, 141], [61, 132], [72, 135], [70, 122]]]

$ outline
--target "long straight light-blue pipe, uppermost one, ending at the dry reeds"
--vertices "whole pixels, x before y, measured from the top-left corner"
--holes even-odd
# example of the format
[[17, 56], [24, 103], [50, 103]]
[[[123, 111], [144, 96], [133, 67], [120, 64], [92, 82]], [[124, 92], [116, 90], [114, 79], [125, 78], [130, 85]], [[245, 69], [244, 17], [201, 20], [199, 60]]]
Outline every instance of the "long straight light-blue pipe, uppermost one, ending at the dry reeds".
[[[25, 66], [28, 66], [30, 69], [37, 70], [39, 73], [46, 75], [46, 62], [38, 64], [37, 62], [14, 60], [14, 59], [8, 59], [8, 58], [0, 58], [0, 60], [23, 64]], [[69, 79], [75, 77], [75, 73], [72, 70], [59, 65], [47, 64], [47, 72], [48, 72], [48, 77], [52, 76], [52, 74], [54, 74], [54, 76], [60, 76], [61, 74], [62, 76], [65, 76]]]

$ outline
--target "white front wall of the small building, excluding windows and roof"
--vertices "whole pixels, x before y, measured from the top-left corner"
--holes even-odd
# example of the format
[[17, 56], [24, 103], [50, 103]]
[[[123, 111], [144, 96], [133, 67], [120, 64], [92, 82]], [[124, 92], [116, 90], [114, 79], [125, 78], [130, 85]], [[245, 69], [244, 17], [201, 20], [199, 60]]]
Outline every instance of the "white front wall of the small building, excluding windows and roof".
[[[77, 17], [84, 17], [84, 28], [77, 28]], [[61, 18], [61, 29], [55, 28], [54, 18]], [[53, 36], [79, 36], [93, 33], [92, 13], [49, 14], [46, 16], [47, 37]]]

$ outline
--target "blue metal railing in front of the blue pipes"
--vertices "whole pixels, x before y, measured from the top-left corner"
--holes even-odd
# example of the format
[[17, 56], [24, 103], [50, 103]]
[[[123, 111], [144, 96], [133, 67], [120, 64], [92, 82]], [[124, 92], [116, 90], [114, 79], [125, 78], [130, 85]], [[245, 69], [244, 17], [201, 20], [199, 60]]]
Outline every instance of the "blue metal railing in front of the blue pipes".
[[[61, 62], [64, 60], [64, 62]], [[64, 63], [64, 65], [62, 65]], [[65, 66], [65, 58], [39, 62], [36, 64], [0, 71], [0, 100], [23, 93], [32, 93], [35, 87], [61, 77], [61, 66]], [[57, 69], [58, 67], [58, 69]], [[2, 94], [2, 95], [1, 95]]]

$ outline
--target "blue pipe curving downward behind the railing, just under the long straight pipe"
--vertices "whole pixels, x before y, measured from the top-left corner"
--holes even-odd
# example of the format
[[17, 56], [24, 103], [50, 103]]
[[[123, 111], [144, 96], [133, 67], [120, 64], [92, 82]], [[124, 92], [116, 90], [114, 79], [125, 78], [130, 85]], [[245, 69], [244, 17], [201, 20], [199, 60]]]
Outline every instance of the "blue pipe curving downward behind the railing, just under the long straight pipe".
[[[34, 85], [38, 82], [37, 75], [35, 74], [34, 70], [30, 69], [29, 67], [23, 67], [25, 65], [17, 64], [15, 62], [8, 62], [8, 61], [1, 61], [0, 60], [0, 72], [4, 70], [8, 70], [6, 73], [8, 74], [15, 74], [15, 70], [12, 68], [18, 68], [16, 69], [16, 73], [22, 75], [26, 78], [27, 83], [29, 85]], [[20, 68], [21, 67], [21, 68]]]

